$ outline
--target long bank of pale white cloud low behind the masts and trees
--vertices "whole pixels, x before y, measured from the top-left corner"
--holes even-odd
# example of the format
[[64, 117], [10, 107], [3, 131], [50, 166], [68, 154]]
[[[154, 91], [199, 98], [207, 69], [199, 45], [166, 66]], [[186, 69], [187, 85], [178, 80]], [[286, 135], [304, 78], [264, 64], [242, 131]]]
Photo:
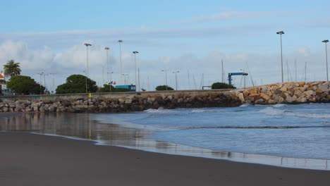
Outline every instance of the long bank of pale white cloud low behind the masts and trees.
[[[89, 48], [90, 77], [102, 84], [103, 78], [106, 81], [106, 52], [104, 46], [93, 46]], [[113, 79], [120, 80], [119, 56], [109, 53], [110, 70], [114, 72]], [[73, 45], [65, 51], [54, 51], [47, 46], [42, 49], [30, 49], [24, 42], [6, 41], [0, 44], [0, 61], [4, 65], [6, 61], [14, 59], [21, 63], [23, 75], [30, 75], [39, 81], [37, 73], [56, 73], [55, 86], [65, 82], [66, 77], [71, 74], [80, 73], [86, 69], [86, 47], [83, 44]], [[284, 70], [286, 75], [286, 60], [291, 69], [291, 76], [294, 76], [294, 61], [298, 61], [298, 80], [305, 78], [305, 61], [307, 61], [307, 80], [324, 80], [324, 52], [313, 51], [305, 46], [301, 46], [297, 51], [284, 56]], [[161, 56], [149, 58], [137, 55], [137, 64], [140, 68], [141, 84], [143, 82], [147, 88], [147, 77], [149, 77], [149, 87], [154, 89], [157, 85], [164, 85], [165, 75], [161, 72], [167, 68], [168, 82], [171, 87], [175, 87], [175, 75], [173, 70], [179, 70], [178, 87], [187, 89], [188, 85], [200, 87], [202, 74], [204, 74], [204, 85], [221, 80], [221, 60], [224, 60], [225, 74], [239, 72], [245, 69], [250, 73], [253, 81], [260, 83], [279, 82], [281, 80], [280, 58], [278, 54], [250, 54], [246, 52], [225, 54], [214, 50], [210, 53], [197, 56], [192, 53], [179, 56]], [[135, 63], [133, 55], [125, 49], [122, 52], [123, 73], [128, 73], [128, 82], [135, 82]], [[250, 70], [247, 69], [247, 65]], [[188, 70], [190, 72], [190, 82], [188, 82]], [[321, 72], [321, 73], [320, 73]], [[104, 76], [104, 77], [103, 77]], [[52, 76], [47, 77], [47, 85], [51, 85]], [[225, 75], [225, 79], [227, 75]], [[248, 77], [250, 82], [250, 76]], [[234, 77], [236, 85], [240, 85], [240, 77]], [[250, 83], [251, 84], [251, 83]], [[50, 89], [50, 87], [49, 87]]]

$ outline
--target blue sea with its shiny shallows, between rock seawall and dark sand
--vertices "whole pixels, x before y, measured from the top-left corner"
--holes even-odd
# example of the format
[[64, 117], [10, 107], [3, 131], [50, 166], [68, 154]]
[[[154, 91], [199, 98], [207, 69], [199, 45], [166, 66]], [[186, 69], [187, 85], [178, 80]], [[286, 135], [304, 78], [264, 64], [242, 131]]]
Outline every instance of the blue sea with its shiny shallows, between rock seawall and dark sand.
[[330, 170], [330, 104], [22, 114], [2, 117], [0, 130], [166, 154]]

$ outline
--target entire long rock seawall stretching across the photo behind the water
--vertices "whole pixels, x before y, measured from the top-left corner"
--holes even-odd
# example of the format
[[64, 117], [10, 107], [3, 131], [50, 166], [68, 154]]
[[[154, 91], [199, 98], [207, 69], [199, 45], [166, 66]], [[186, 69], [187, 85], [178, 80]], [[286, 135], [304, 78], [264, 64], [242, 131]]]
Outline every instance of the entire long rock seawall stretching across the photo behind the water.
[[0, 112], [128, 112], [240, 106], [241, 104], [302, 104], [330, 102], [330, 82], [285, 82], [249, 89], [54, 94], [0, 97]]

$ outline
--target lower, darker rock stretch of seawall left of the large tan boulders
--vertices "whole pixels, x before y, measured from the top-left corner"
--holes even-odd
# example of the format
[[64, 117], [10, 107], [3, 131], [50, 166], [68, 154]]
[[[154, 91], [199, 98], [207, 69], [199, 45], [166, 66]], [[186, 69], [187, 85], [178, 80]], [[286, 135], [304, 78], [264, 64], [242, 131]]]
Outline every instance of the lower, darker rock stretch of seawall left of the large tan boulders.
[[[102, 96], [103, 95], [103, 96]], [[146, 109], [238, 106], [240, 100], [229, 92], [163, 92], [112, 96], [93, 94], [91, 98], [56, 99], [54, 101], [14, 99], [0, 103], [0, 112], [127, 112]]]

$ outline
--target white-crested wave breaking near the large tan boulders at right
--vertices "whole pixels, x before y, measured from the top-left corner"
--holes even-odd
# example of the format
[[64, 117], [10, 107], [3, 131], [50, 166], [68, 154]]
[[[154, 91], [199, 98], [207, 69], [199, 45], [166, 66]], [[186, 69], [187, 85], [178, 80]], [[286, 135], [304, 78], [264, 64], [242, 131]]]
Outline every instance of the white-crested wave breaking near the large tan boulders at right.
[[275, 109], [274, 107], [267, 107], [259, 111], [259, 113], [264, 113], [270, 116], [296, 116], [303, 118], [330, 118], [330, 114], [327, 113], [302, 113]]

